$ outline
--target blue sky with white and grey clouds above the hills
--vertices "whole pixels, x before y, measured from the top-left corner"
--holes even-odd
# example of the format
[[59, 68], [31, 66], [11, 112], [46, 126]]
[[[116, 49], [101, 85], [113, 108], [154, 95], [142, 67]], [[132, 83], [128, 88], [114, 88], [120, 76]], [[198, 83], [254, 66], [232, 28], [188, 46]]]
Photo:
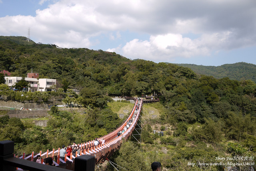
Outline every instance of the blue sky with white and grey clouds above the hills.
[[129, 59], [256, 64], [255, 0], [0, 0], [0, 35]]

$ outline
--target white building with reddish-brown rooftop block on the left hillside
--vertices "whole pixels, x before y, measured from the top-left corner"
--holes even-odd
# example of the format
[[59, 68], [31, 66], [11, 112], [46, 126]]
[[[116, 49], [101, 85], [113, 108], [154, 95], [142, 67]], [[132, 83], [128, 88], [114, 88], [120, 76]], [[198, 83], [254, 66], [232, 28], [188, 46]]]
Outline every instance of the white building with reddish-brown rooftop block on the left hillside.
[[[22, 77], [4, 77], [6, 85], [9, 87], [18, 83]], [[56, 85], [55, 79], [38, 78], [38, 73], [28, 73], [28, 77], [25, 80], [30, 84], [28, 91], [54, 91], [54, 85]]]

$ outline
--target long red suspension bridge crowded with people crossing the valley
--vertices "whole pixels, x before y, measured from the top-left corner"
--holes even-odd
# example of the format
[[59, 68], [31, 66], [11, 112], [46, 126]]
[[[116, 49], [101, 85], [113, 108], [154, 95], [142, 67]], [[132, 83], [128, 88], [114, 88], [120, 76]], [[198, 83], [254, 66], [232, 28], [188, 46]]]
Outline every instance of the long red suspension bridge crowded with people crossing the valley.
[[[95, 165], [98, 163], [104, 163], [104, 161], [108, 159], [108, 157], [110, 157], [117, 149], [120, 148], [122, 139], [126, 140], [130, 135], [132, 135], [132, 131], [134, 131], [135, 126], [137, 125], [138, 119], [140, 117], [142, 103], [143, 103], [143, 100], [138, 101], [138, 99], [136, 99], [134, 107], [129, 117], [126, 119], [126, 121], [122, 125], [120, 125], [120, 127], [112, 131], [108, 135], [104, 135], [103, 137], [98, 138], [99, 142], [102, 139], [104, 139], [105, 140], [104, 144], [100, 143], [99, 145], [95, 146], [94, 145], [95, 140], [84, 142], [82, 144], [79, 144], [79, 147], [81, 149], [80, 153], [77, 153], [76, 151], [76, 154], [71, 154], [70, 157], [67, 157], [65, 155], [64, 160], [60, 158], [60, 148], [58, 148], [57, 150], [52, 149], [52, 151], [47, 150], [45, 153], [42, 153], [42, 151], [40, 151], [39, 153], [32, 152], [32, 154], [28, 154], [28, 155], [25, 155], [25, 153], [23, 153], [22, 156], [20, 157], [16, 156], [16, 157], [20, 159], [34, 161], [34, 159], [38, 155], [40, 155], [41, 163], [44, 163], [45, 158], [52, 157], [52, 159], [54, 159], [53, 161], [56, 164], [56, 166], [69, 169], [69, 170], [74, 170], [74, 159], [81, 155], [90, 155], [95, 157]], [[130, 127], [124, 133], [122, 133], [122, 135], [118, 136], [117, 135], [118, 131], [122, 131], [126, 126], [126, 123], [132, 118], [134, 119]]]

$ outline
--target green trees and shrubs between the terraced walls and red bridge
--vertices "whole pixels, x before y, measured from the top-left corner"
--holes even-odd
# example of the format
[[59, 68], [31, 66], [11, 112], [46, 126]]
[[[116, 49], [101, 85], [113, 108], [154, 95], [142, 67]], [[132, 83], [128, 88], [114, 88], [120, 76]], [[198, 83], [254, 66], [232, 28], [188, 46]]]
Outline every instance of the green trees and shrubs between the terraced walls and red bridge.
[[52, 107], [47, 126], [23, 123], [16, 117], [8, 115], [0, 117], [0, 141], [12, 140], [15, 142], [15, 153], [46, 151], [58, 149], [75, 141], [83, 143], [106, 135], [116, 129], [121, 123], [116, 113], [109, 109], [89, 109], [84, 113], [59, 111]]

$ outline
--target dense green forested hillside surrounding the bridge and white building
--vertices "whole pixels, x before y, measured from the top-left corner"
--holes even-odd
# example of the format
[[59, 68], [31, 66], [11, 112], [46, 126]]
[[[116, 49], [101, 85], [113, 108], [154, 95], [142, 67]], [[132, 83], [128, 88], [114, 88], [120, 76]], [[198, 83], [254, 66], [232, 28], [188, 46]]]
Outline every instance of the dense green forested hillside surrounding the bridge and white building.
[[[134, 171], [150, 170], [153, 161], [160, 161], [169, 170], [217, 171], [225, 166], [198, 163], [220, 163], [216, 157], [231, 158], [222, 163], [241, 163], [247, 156], [249, 164], [236, 168], [248, 170], [253, 165], [256, 169], [256, 84], [250, 80], [196, 75], [182, 66], [132, 61], [102, 50], [0, 41], [0, 70], [9, 71], [11, 76], [26, 76], [31, 68], [40, 78], [59, 82], [56, 92], [41, 95], [43, 101], [47, 102], [48, 96], [80, 98], [79, 107], [84, 107], [84, 112], [52, 107], [47, 127], [0, 117], [0, 140], [15, 141], [18, 154], [58, 148], [72, 141], [84, 142], [114, 130], [122, 121], [109, 106], [123, 104], [106, 105], [114, 103], [110, 95], [156, 94], [160, 102], [150, 106], [160, 114], [154, 119], [146, 117], [148, 111], [143, 109], [141, 148], [130, 138], [110, 160]], [[79, 89], [80, 94], [74, 95], [69, 88]], [[0, 90], [6, 100], [32, 102], [40, 96], [24, 92], [21, 99], [20, 94], [15, 95], [3, 84]], [[164, 136], [154, 134], [153, 130], [164, 131]], [[235, 156], [243, 160], [232, 160]], [[104, 169], [114, 170], [114, 167], [107, 165]]]

